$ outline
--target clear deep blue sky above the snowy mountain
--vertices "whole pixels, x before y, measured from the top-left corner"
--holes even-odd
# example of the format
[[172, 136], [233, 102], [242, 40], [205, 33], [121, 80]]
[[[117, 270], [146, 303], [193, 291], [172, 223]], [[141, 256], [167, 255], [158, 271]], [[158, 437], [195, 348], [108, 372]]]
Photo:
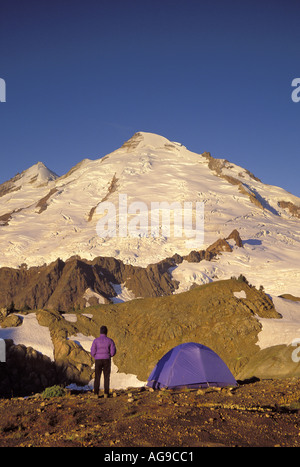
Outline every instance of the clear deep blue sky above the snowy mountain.
[[0, 0], [0, 183], [136, 131], [300, 196], [299, 0]]

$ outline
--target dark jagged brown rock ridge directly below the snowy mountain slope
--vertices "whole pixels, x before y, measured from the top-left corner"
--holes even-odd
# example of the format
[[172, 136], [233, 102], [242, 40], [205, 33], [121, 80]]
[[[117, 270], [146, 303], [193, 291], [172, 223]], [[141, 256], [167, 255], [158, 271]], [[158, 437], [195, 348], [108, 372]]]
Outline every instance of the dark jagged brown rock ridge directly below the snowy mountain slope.
[[[234, 239], [237, 246], [242, 246], [236, 230], [227, 239]], [[170, 295], [178, 288], [170, 268], [183, 260], [210, 261], [223, 251], [232, 248], [225, 239], [219, 239], [206, 250], [192, 251], [186, 256], [175, 254], [146, 268], [124, 264], [112, 257], [97, 257], [92, 261], [78, 257], [67, 261], [57, 259], [49, 265], [29, 269], [26, 265], [19, 269], [0, 268], [0, 307], [8, 307], [13, 302], [18, 310], [70, 311], [86, 306], [87, 289], [108, 303], [117, 295], [114, 285], [124, 285], [137, 298]]]

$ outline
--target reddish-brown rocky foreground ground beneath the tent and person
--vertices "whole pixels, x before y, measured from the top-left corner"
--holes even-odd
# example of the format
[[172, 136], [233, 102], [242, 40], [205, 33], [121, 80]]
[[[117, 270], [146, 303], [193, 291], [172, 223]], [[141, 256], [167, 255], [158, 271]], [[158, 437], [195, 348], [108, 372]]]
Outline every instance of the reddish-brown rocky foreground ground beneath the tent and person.
[[0, 446], [300, 446], [300, 379], [0, 399]]

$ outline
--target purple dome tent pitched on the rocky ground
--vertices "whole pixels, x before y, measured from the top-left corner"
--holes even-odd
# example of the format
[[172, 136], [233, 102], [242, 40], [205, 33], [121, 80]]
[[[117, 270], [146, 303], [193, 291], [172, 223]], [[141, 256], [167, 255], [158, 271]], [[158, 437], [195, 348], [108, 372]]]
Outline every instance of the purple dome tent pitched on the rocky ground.
[[236, 385], [223, 360], [209, 347], [194, 342], [180, 344], [167, 352], [147, 381], [147, 386], [154, 389]]

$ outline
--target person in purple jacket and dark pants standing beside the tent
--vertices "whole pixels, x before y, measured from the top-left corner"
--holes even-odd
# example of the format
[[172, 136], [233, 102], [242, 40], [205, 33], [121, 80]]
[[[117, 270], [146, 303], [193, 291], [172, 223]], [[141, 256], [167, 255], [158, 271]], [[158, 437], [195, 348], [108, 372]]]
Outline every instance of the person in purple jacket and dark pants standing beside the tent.
[[107, 337], [106, 326], [101, 326], [100, 336], [94, 339], [91, 347], [91, 354], [95, 359], [94, 394], [99, 396], [100, 379], [103, 371], [104, 397], [109, 397], [111, 357], [116, 354], [116, 346], [114, 341]]

